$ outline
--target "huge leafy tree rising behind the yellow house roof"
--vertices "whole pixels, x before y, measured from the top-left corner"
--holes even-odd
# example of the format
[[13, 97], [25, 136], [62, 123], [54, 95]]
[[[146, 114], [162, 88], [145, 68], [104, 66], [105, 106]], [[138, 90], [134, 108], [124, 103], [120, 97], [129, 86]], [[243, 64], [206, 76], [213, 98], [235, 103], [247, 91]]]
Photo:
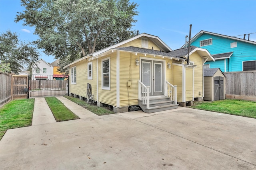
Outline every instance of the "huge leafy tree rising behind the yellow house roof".
[[135, 35], [138, 4], [129, 0], [21, 0], [16, 22], [35, 27], [36, 44], [70, 61]]

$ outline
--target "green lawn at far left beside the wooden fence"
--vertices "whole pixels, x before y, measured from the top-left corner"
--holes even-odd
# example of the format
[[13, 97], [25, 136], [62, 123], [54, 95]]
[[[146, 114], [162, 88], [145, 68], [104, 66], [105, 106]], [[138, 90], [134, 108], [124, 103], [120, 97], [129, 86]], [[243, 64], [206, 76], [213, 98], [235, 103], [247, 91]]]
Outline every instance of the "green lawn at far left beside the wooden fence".
[[35, 99], [17, 99], [0, 108], [0, 140], [8, 129], [32, 125]]

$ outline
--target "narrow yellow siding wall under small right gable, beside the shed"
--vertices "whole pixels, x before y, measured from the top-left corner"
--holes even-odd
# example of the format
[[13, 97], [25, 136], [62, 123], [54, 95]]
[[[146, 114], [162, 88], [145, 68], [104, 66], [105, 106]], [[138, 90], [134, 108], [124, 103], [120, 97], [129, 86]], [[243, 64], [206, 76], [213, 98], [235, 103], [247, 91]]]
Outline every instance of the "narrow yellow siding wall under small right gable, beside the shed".
[[[203, 96], [203, 68], [202, 57], [198, 53], [190, 55], [190, 60], [194, 62], [194, 98]], [[199, 95], [201, 92], [201, 95]]]

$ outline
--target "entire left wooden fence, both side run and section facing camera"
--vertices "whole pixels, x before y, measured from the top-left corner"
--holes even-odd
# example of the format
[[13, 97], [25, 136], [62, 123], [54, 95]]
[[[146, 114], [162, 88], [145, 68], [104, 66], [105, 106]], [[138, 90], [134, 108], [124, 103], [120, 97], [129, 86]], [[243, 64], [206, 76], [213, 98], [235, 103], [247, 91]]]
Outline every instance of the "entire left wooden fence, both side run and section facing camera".
[[0, 106], [12, 99], [27, 98], [28, 76], [0, 72]]

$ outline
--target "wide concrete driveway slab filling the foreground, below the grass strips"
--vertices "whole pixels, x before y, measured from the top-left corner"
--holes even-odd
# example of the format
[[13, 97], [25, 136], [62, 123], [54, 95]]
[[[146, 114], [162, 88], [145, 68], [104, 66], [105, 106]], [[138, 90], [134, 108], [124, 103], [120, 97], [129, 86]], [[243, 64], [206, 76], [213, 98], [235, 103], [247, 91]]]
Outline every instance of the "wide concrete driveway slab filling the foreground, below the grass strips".
[[256, 119], [179, 107], [10, 129], [0, 169], [256, 169]]

